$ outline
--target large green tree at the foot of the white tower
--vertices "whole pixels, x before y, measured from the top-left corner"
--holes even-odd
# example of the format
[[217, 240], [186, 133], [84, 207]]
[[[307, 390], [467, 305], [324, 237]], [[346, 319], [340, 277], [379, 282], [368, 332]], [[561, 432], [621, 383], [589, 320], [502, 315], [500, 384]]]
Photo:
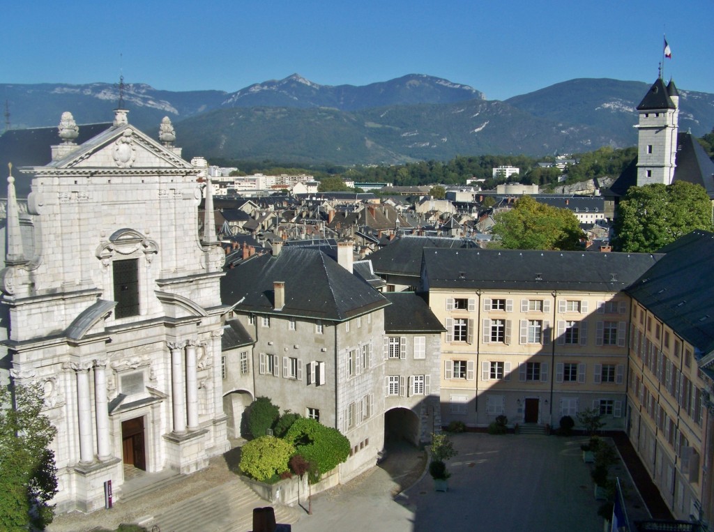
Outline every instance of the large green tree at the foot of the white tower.
[[711, 219], [711, 201], [700, 185], [632, 186], [618, 206], [613, 244], [618, 251], [651, 253], [695, 229], [711, 231]]

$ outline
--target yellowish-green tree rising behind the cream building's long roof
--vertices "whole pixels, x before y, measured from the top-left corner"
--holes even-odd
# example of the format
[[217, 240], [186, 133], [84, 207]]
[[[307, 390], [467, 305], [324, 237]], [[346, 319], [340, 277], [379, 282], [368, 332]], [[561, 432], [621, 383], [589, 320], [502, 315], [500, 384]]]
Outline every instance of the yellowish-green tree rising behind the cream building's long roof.
[[494, 216], [491, 231], [506, 249], [580, 249], [583, 231], [575, 214], [522, 196], [513, 209]]

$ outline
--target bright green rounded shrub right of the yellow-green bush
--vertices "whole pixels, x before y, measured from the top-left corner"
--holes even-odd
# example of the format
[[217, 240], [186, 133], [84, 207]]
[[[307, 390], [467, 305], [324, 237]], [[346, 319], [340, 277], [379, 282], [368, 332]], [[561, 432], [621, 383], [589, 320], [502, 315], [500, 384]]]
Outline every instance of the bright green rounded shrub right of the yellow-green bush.
[[336, 468], [350, 454], [350, 441], [340, 431], [311, 418], [297, 419], [288, 428], [285, 439], [308, 462], [315, 464], [319, 475]]

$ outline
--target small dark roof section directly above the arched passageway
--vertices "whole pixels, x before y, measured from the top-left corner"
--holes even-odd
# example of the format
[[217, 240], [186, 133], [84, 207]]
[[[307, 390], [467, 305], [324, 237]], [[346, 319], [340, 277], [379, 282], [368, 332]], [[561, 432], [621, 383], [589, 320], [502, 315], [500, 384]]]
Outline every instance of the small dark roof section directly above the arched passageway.
[[443, 333], [446, 331], [431, 308], [413, 292], [388, 292], [392, 303], [384, 309], [384, 331], [390, 333]]

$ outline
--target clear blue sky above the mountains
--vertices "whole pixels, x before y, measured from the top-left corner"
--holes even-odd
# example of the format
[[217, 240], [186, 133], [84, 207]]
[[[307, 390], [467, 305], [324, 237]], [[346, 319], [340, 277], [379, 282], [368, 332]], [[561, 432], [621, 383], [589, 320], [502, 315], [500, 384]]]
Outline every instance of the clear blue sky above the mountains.
[[507, 99], [575, 78], [714, 93], [713, 0], [4, 0], [0, 83], [237, 91], [430, 74]]

